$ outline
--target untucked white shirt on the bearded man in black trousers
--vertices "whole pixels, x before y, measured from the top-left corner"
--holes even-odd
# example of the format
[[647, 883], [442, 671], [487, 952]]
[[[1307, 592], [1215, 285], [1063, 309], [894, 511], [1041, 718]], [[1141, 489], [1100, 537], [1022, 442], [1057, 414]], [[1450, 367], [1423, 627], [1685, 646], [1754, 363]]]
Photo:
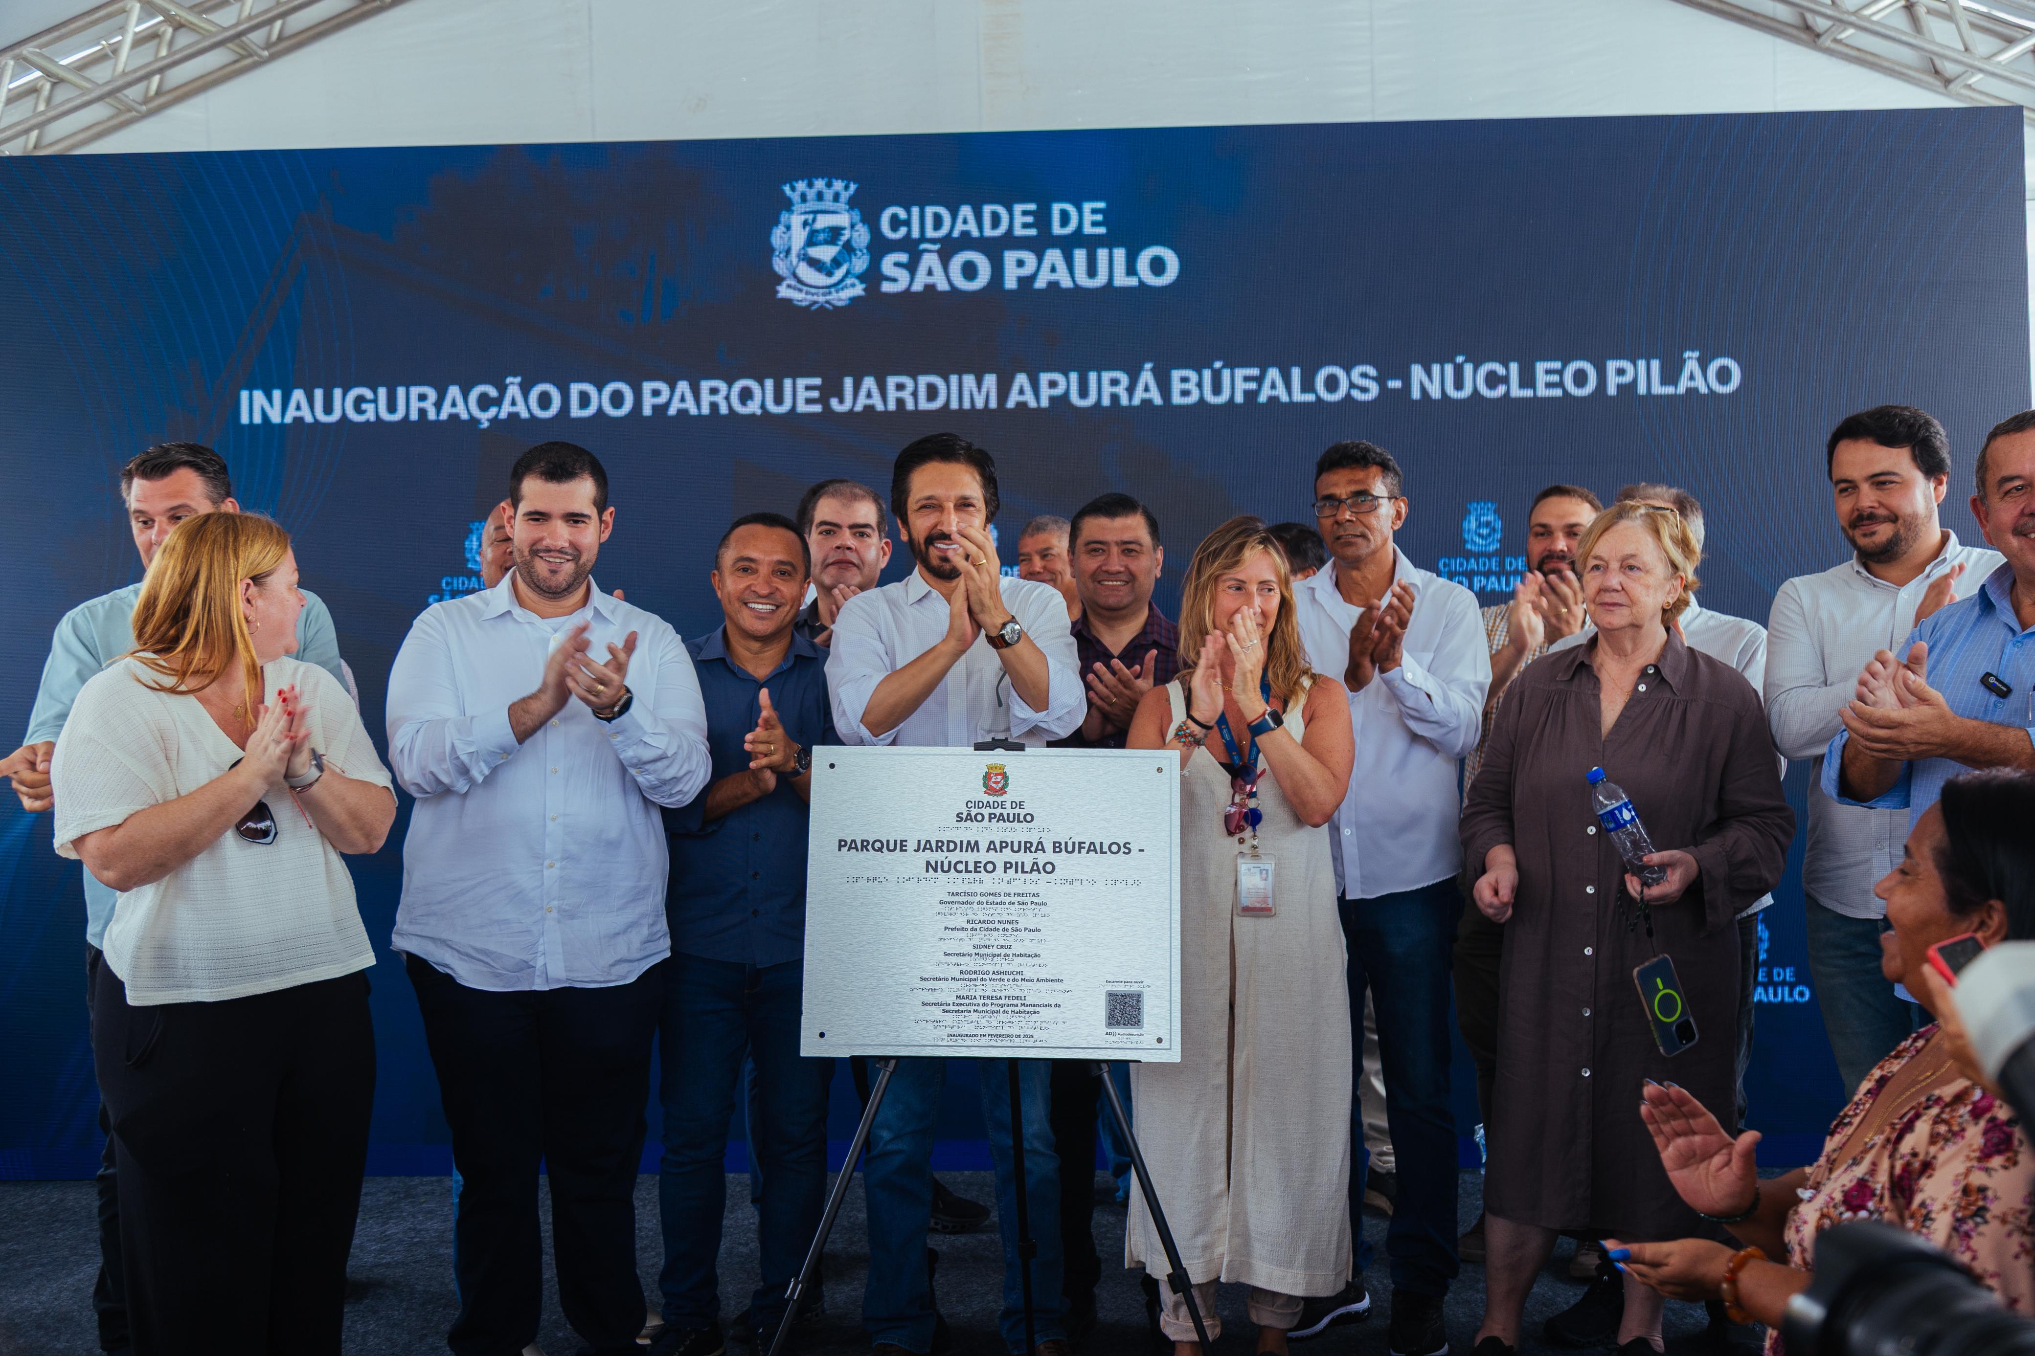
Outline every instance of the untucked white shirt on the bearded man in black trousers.
[[[706, 785], [700, 681], [663, 618], [598, 583], [539, 618], [513, 581], [427, 608], [389, 673], [389, 764], [417, 797], [391, 945], [468, 988], [627, 984], [672, 953], [657, 807]], [[511, 703], [580, 622], [602, 663], [637, 632], [629, 712], [604, 724], [574, 697], [517, 744]]]

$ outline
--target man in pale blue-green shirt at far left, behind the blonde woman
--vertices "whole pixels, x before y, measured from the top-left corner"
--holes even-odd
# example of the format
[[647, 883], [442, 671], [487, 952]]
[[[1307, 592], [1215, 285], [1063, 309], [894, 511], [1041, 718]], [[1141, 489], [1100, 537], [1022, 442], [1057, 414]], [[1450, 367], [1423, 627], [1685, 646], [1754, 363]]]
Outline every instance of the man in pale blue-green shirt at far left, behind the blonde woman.
[[[206, 512], [240, 512], [234, 502], [226, 459], [199, 443], [157, 443], [120, 472], [120, 500], [126, 504], [128, 529], [147, 571], [157, 547], [185, 518]], [[108, 663], [134, 649], [134, 602], [140, 583], [128, 583], [112, 594], [100, 594], [63, 614], [43, 665], [43, 683], [28, 716], [28, 736], [22, 746], [0, 760], [0, 777], [14, 783], [14, 795], [28, 813], [51, 807], [49, 756], [63, 734], [77, 689]], [[332, 634], [332, 614], [326, 604], [303, 594], [297, 616], [297, 659], [330, 671], [342, 683], [340, 644]], [[85, 872], [85, 992], [100, 964], [106, 925], [112, 923], [120, 897]], [[88, 1008], [90, 1021], [90, 1008]], [[92, 1307], [100, 1319], [100, 1346], [120, 1352], [128, 1346], [126, 1303], [120, 1287], [120, 1208], [114, 1183], [112, 1126], [106, 1106], [100, 1106], [100, 1130], [108, 1134], [100, 1163], [100, 1279], [92, 1291]]]

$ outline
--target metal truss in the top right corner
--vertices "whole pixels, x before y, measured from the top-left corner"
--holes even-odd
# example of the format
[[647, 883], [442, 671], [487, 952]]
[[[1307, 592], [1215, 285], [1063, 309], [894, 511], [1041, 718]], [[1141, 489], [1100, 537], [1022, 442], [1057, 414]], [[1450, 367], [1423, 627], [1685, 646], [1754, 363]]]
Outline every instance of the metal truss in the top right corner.
[[1964, 104], [2035, 122], [2035, 0], [1679, 0]]

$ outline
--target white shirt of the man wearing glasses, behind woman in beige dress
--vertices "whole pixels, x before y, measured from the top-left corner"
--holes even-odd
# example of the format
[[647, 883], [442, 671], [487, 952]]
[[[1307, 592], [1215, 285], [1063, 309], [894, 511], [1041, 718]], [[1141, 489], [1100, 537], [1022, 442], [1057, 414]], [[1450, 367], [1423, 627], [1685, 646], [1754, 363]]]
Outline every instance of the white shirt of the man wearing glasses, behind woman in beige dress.
[[[1349, 697], [1357, 760], [1349, 795], [1329, 823], [1335, 888], [1376, 899], [1447, 880], [1463, 864], [1457, 764], [1484, 730], [1492, 655], [1477, 596], [1429, 573], [1392, 547], [1392, 581], [1412, 585], [1400, 667]], [[1294, 585], [1306, 663], [1335, 681], [1349, 669], [1349, 632], [1361, 608], [1335, 588], [1335, 561]]]

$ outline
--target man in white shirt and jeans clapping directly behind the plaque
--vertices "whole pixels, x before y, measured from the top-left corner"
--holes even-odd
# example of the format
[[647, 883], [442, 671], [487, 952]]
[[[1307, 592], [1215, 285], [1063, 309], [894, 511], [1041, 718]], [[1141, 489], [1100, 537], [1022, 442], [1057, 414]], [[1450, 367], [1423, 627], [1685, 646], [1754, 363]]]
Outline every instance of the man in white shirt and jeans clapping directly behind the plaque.
[[[958, 746], [1007, 738], [1028, 746], [1081, 728], [1089, 701], [1077, 675], [1066, 604], [1046, 583], [1001, 575], [989, 520], [997, 468], [954, 433], [932, 433], [897, 453], [891, 512], [918, 569], [847, 600], [834, 618], [826, 687], [842, 744]], [[1005, 1348], [1024, 1352], [1018, 1295], [1018, 1189], [1011, 1177], [1009, 1075], [1001, 1059], [977, 1067], [1003, 1232]], [[1020, 1061], [1034, 1334], [1040, 1352], [1064, 1352], [1060, 1295], [1060, 1167], [1048, 1128], [1044, 1059]], [[932, 1208], [932, 1124], [944, 1061], [902, 1059], [869, 1134], [869, 1289], [863, 1326], [877, 1356], [938, 1350], [938, 1311], [926, 1260]], [[1070, 1171], [1087, 1173], [1087, 1163]]]

